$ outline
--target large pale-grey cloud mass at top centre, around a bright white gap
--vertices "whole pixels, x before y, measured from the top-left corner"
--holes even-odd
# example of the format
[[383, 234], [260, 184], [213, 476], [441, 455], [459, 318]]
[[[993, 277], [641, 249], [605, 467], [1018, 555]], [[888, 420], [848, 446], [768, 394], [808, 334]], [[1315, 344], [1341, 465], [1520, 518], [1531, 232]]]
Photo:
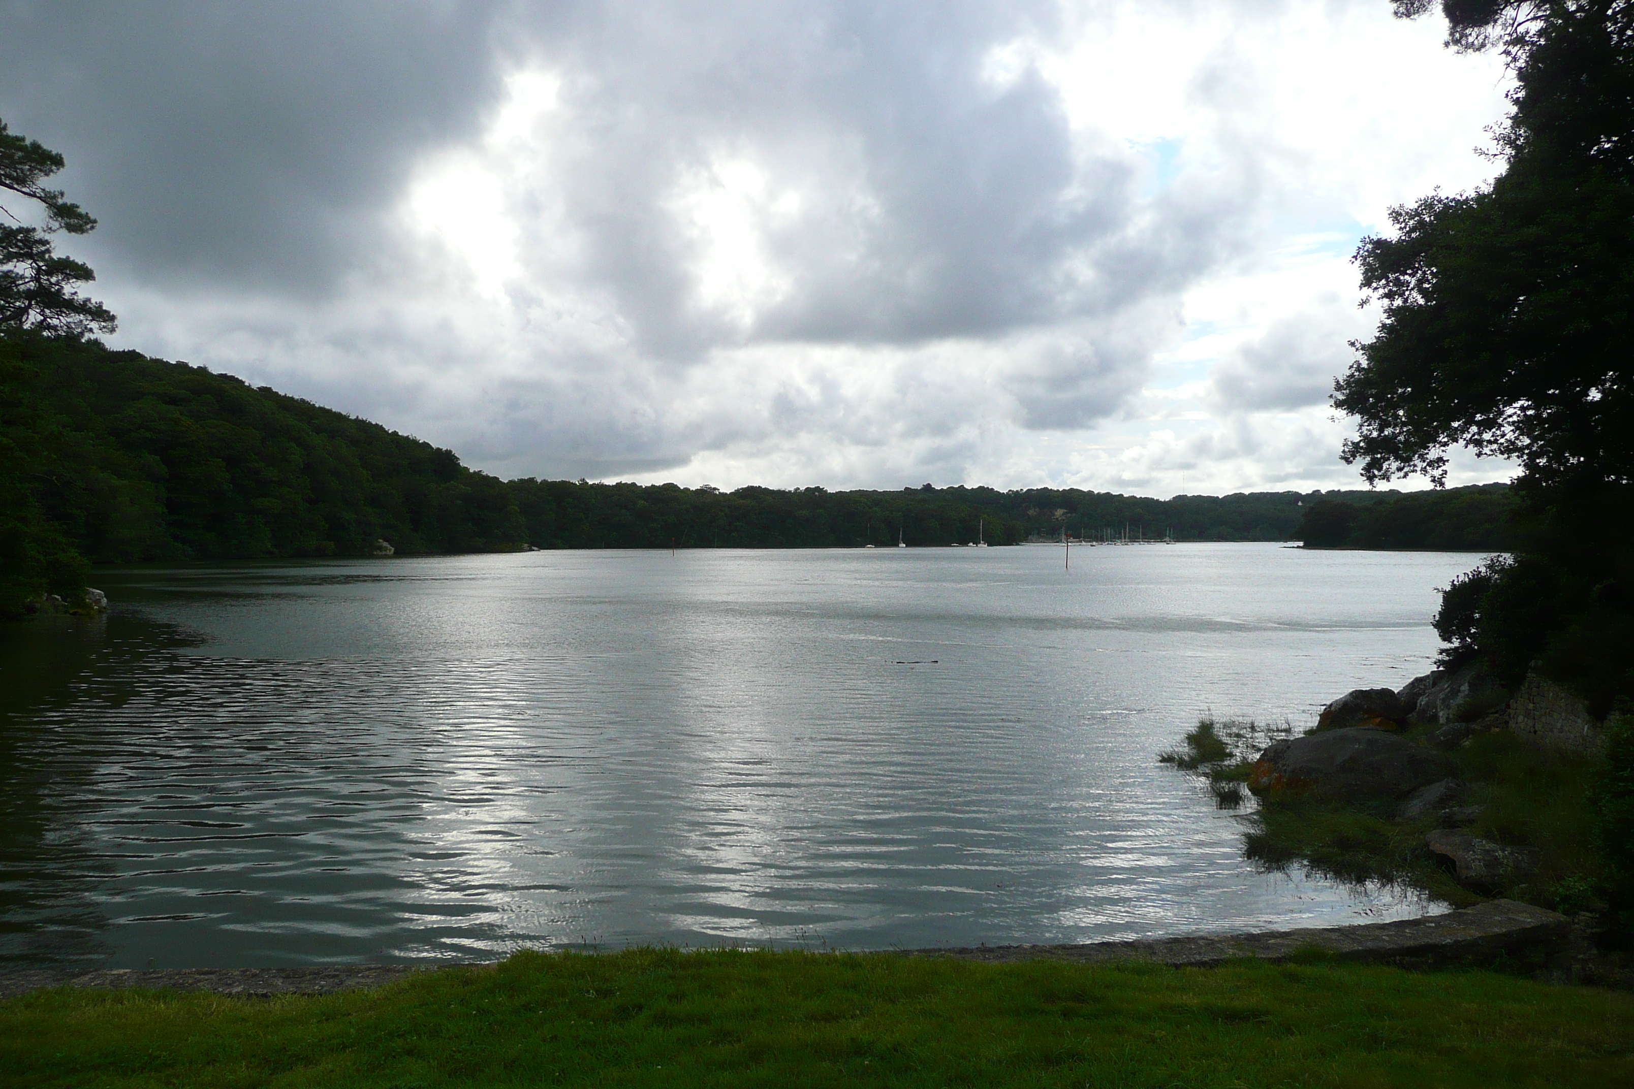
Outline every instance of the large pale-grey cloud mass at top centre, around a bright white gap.
[[[1250, 194], [1183, 189], [1142, 217], [1129, 149], [1075, 134], [1031, 65], [990, 75], [995, 47], [1049, 38], [1054, 20], [1049, 3], [771, 2], [564, 20], [565, 38], [538, 42], [565, 77], [585, 271], [652, 348], [683, 354], [987, 336], [1183, 287]], [[789, 291], [743, 330], [696, 305], [667, 202], [732, 157], [801, 206], [765, 232]]]

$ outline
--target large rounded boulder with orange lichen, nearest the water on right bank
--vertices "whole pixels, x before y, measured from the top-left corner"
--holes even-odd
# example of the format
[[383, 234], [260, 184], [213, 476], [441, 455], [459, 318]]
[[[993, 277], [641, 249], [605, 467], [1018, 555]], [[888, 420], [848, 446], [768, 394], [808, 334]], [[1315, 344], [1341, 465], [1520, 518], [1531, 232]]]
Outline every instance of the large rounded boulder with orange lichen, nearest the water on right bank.
[[1278, 741], [1248, 776], [1255, 793], [1312, 793], [1337, 802], [1400, 798], [1453, 774], [1441, 753], [1376, 727], [1324, 730]]

